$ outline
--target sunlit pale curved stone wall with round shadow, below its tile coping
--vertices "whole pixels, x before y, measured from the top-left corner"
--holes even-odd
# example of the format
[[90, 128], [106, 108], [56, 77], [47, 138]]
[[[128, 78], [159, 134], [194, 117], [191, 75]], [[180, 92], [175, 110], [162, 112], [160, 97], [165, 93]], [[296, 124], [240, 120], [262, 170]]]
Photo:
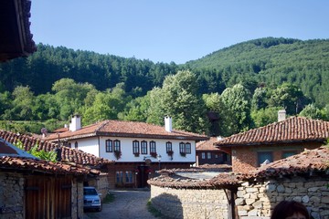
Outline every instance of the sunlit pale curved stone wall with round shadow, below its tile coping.
[[154, 208], [169, 218], [228, 218], [224, 190], [174, 189], [151, 185]]

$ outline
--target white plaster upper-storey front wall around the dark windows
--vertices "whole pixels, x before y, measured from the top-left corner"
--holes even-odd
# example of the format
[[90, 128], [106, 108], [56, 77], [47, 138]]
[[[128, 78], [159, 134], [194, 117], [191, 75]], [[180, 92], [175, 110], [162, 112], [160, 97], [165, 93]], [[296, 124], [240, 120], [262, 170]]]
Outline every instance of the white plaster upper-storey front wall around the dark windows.
[[[121, 141], [122, 158], [116, 160], [113, 152], [105, 151], [105, 141]], [[133, 154], [133, 141], [140, 141], [140, 156], [135, 157]], [[147, 141], [147, 154], [141, 154], [141, 141]], [[158, 162], [156, 158], [150, 157], [150, 141], [155, 141], [156, 153], [161, 155], [161, 162], [196, 162], [196, 141], [186, 140], [163, 140], [163, 139], [139, 139], [139, 138], [115, 138], [115, 137], [100, 137], [100, 152], [101, 157], [116, 162], [143, 162], [144, 156], [151, 159], [152, 162]], [[173, 144], [173, 160], [168, 156], [165, 149], [165, 142], [170, 141]], [[179, 143], [189, 142], [191, 144], [191, 153], [182, 157], [179, 153]]]

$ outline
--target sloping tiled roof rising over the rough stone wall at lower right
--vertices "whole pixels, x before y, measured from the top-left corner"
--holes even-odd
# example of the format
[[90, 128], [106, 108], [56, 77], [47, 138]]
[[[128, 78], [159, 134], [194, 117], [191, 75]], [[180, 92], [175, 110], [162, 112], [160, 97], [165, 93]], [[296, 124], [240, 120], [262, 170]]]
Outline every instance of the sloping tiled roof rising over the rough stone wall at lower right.
[[318, 149], [302, 151], [300, 154], [261, 166], [251, 175], [252, 177], [261, 178], [328, 171], [329, 148], [328, 146], [322, 146]]

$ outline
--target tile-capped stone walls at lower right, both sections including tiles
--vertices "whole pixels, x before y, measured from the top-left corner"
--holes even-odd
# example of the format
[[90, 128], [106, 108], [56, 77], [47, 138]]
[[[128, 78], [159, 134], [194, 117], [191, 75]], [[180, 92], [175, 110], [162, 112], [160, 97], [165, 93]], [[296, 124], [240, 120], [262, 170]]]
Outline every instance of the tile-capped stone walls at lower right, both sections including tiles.
[[151, 202], [170, 218], [270, 219], [277, 203], [294, 200], [314, 219], [329, 218], [328, 161], [323, 146], [248, 174], [222, 172], [207, 180], [166, 171], [149, 181]]

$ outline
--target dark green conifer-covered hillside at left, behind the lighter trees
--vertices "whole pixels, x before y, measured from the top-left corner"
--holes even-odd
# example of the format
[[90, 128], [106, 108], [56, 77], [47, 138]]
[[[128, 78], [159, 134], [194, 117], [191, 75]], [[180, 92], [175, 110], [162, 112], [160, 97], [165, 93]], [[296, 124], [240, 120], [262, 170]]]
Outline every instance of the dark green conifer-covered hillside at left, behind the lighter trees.
[[156, 63], [134, 57], [101, 55], [67, 47], [37, 45], [37, 52], [27, 58], [16, 58], [0, 65], [0, 92], [12, 91], [17, 85], [29, 86], [35, 94], [47, 93], [60, 78], [88, 82], [105, 90], [124, 83], [127, 92], [140, 96], [164, 77], [175, 74], [175, 63]]

